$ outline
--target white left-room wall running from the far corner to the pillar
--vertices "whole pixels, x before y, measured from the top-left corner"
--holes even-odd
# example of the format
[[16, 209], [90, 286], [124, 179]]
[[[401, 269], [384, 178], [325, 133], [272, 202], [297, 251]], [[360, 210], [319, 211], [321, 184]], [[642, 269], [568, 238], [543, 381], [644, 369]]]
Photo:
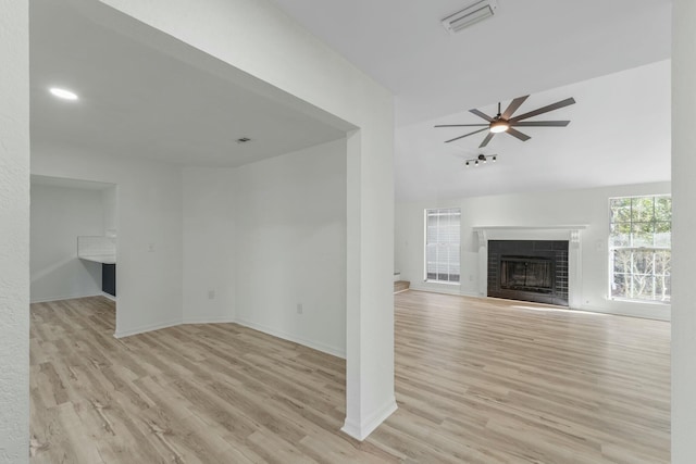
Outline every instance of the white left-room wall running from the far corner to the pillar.
[[346, 141], [243, 166], [236, 186], [238, 322], [345, 356]]

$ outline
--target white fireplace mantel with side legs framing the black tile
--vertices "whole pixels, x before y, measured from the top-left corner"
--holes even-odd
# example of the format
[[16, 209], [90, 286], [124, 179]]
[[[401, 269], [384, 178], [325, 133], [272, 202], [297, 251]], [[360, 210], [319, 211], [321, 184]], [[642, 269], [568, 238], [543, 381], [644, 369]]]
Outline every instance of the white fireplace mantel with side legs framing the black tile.
[[582, 304], [581, 283], [581, 233], [586, 224], [545, 225], [545, 226], [475, 226], [478, 236], [478, 293], [488, 294], [488, 240], [568, 240], [569, 241], [569, 305], [580, 308]]

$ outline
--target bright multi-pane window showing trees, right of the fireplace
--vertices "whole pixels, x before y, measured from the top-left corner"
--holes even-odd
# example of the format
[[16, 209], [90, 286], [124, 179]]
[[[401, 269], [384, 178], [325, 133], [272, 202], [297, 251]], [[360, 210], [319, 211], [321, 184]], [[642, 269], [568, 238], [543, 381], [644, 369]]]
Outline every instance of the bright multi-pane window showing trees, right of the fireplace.
[[611, 298], [669, 302], [672, 199], [609, 199]]

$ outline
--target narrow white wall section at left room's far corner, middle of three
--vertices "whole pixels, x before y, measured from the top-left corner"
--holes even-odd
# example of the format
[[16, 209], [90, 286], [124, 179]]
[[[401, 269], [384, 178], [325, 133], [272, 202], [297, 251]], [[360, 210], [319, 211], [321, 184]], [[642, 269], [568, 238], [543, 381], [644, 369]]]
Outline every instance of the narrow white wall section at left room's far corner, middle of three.
[[235, 250], [240, 246], [235, 170], [186, 167], [183, 175], [184, 322], [234, 322]]

